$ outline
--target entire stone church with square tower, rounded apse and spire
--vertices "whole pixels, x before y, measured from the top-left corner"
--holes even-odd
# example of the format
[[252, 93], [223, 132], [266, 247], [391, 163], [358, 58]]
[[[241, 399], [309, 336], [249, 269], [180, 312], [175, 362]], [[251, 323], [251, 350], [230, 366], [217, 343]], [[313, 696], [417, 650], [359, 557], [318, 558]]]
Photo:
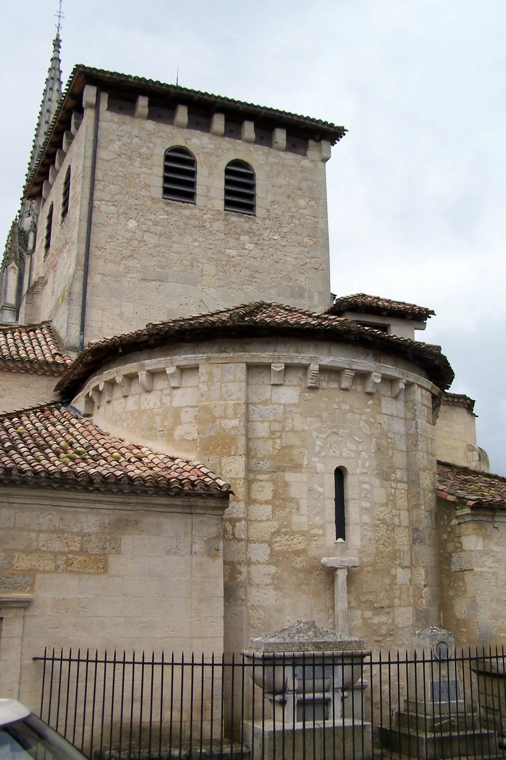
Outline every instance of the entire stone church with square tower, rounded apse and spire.
[[[506, 635], [506, 478], [431, 309], [330, 292], [346, 130], [53, 46], [0, 271], [0, 694], [44, 648]], [[16, 192], [16, 188], [13, 188]]]

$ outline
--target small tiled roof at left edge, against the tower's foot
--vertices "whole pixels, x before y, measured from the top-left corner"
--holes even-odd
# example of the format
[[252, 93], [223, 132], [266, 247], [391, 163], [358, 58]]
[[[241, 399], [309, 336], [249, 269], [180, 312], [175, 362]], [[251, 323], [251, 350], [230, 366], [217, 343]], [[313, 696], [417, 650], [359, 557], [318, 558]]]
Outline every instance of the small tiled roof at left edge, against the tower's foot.
[[70, 356], [56, 344], [51, 322], [0, 327], [0, 367], [62, 375], [71, 363]]

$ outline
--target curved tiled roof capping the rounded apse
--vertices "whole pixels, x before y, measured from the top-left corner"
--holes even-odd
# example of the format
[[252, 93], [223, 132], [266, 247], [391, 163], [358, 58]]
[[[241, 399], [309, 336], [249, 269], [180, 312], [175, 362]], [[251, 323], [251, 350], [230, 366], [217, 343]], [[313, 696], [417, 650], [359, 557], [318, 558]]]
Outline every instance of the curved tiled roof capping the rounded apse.
[[448, 388], [454, 378], [453, 370], [438, 346], [388, 335], [340, 317], [313, 314], [293, 306], [256, 302], [194, 317], [169, 319], [157, 325], [146, 325], [142, 330], [89, 344], [56, 388], [70, 398], [104, 360], [119, 353], [125, 355], [188, 341], [264, 336], [331, 340], [403, 356], [425, 369], [432, 382], [443, 389]]

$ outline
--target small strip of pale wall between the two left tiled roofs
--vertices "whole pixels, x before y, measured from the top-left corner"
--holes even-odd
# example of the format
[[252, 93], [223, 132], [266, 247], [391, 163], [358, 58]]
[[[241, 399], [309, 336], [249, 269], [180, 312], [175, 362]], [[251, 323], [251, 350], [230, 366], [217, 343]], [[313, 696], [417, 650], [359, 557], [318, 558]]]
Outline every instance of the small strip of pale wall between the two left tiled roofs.
[[0, 369], [0, 412], [35, 407], [57, 401], [53, 388], [59, 377]]

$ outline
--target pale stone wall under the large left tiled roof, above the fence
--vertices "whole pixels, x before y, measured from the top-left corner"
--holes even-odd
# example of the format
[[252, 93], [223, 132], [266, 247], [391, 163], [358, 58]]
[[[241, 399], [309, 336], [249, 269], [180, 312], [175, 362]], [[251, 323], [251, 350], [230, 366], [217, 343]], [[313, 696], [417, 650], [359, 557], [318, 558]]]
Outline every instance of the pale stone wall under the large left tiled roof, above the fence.
[[46, 646], [223, 650], [223, 505], [197, 502], [2, 489], [0, 617], [2, 594], [33, 594], [23, 701]]

